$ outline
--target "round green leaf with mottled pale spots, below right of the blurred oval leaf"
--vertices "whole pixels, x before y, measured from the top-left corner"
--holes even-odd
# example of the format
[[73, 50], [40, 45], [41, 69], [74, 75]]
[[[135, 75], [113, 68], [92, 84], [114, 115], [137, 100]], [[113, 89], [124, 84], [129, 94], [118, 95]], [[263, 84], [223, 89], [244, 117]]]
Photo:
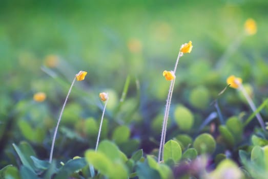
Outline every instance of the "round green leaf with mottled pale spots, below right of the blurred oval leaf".
[[216, 142], [209, 133], [202, 133], [194, 141], [194, 148], [198, 154], [210, 153], [212, 154], [216, 148]]

